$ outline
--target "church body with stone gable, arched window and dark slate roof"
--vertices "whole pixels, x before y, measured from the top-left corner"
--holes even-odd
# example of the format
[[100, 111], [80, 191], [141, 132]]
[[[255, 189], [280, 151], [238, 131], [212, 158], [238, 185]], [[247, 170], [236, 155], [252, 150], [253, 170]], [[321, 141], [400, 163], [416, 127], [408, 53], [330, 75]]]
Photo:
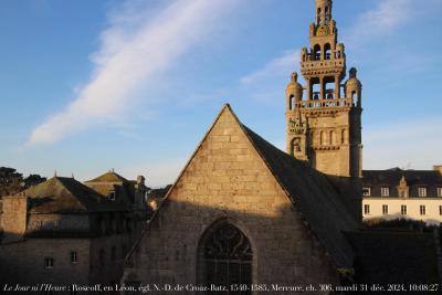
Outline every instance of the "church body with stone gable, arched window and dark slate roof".
[[[126, 284], [339, 284], [357, 228], [325, 175], [242, 125], [229, 105], [128, 259]], [[229, 293], [255, 294], [255, 293]]]

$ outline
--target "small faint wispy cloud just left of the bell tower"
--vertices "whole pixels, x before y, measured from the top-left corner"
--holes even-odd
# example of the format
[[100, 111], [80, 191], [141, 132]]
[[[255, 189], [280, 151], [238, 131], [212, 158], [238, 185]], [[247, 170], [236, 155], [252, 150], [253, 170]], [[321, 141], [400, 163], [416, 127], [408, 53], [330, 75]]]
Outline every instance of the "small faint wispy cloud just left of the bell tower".
[[299, 63], [299, 50], [290, 50], [282, 56], [275, 57], [262, 69], [240, 78], [241, 84], [249, 85], [269, 78], [290, 76]]

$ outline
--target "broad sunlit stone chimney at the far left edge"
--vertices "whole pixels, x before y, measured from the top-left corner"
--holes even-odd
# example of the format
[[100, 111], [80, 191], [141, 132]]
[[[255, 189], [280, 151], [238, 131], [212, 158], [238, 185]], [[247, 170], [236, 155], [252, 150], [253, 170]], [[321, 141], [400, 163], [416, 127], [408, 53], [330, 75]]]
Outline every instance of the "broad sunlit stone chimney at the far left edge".
[[3, 242], [20, 240], [27, 231], [28, 197], [23, 194], [3, 197], [1, 226]]

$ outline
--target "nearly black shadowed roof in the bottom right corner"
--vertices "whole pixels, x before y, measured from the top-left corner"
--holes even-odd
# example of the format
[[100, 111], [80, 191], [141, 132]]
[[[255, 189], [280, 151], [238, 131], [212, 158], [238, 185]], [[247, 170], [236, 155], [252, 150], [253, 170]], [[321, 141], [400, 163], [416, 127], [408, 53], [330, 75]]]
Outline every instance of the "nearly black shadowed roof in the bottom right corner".
[[358, 283], [407, 286], [439, 283], [438, 251], [432, 232], [368, 230], [347, 235], [356, 251]]

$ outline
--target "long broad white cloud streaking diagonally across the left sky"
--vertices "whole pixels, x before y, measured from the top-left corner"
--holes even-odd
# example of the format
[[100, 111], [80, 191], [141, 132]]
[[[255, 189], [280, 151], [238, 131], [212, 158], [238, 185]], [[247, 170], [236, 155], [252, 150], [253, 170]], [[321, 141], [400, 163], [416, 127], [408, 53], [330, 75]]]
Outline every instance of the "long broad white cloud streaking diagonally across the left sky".
[[110, 25], [102, 33], [101, 48], [92, 55], [90, 82], [64, 110], [36, 126], [28, 144], [54, 143], [124, 115], [134, 103], [135, 91], [155, 87], [152, 80], [200, 42], [233, 2], [176, 0], [154, 17], [145, 2], [126, 1], [120, 11], [112, 13]]

